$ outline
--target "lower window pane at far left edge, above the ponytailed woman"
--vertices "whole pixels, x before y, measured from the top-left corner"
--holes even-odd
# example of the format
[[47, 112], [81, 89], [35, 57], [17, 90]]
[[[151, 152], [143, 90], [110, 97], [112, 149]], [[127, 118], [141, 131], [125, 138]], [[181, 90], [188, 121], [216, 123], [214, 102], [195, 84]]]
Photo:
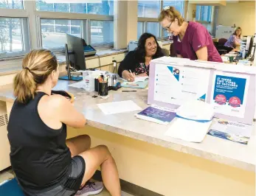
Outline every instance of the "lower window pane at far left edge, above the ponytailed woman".
[[24, 55], [30, 48], [28, 36], [23, 36], [26, 18], [0, 17], [0, 58]]

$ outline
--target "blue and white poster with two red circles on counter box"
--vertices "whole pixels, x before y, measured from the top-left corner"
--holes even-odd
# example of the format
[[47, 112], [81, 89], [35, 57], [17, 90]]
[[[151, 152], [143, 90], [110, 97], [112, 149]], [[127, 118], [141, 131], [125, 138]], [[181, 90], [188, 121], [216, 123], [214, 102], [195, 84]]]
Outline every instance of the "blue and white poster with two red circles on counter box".
[[249, 76], [215, 71], [211, 104], [215, 112], [243, 118], [249, 89]]

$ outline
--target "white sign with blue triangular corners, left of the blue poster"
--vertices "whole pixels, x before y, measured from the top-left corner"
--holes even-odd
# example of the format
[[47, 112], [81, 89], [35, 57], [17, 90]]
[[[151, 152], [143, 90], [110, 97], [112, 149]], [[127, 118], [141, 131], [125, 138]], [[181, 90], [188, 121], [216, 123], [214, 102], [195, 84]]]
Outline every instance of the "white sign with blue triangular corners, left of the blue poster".
[[210, 70], [156, 64], [153, 99], [182, 105], [184, 102], [207, 99]]

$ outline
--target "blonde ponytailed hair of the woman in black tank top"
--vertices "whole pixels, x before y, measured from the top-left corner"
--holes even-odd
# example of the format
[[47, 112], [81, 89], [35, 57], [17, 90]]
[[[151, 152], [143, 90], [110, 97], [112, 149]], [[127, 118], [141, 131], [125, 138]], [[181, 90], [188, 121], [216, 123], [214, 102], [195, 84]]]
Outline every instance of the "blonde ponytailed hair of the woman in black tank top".
[[18, 102], [27, 103], [34, 99], [38, 85], [43, 84], [52, 71], [57, 69], [57, 58], [47, 49], [32, 50], [25, 55], [22, 70], [13, 81], [14, 95]]

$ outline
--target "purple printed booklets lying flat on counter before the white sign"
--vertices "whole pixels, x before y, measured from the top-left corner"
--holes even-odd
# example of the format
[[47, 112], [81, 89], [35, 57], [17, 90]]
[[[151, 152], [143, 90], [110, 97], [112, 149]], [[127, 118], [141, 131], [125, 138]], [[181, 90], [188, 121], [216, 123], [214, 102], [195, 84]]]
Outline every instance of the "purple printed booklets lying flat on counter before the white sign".
[[144, 111], [135, 115], [138, 119], [144, 119], [151, 122], [156, 122], [162, 125], [168, 125], [176, 116], [176, 110], [163, 108], [156, 105], [151, 105], [145, 108]]

